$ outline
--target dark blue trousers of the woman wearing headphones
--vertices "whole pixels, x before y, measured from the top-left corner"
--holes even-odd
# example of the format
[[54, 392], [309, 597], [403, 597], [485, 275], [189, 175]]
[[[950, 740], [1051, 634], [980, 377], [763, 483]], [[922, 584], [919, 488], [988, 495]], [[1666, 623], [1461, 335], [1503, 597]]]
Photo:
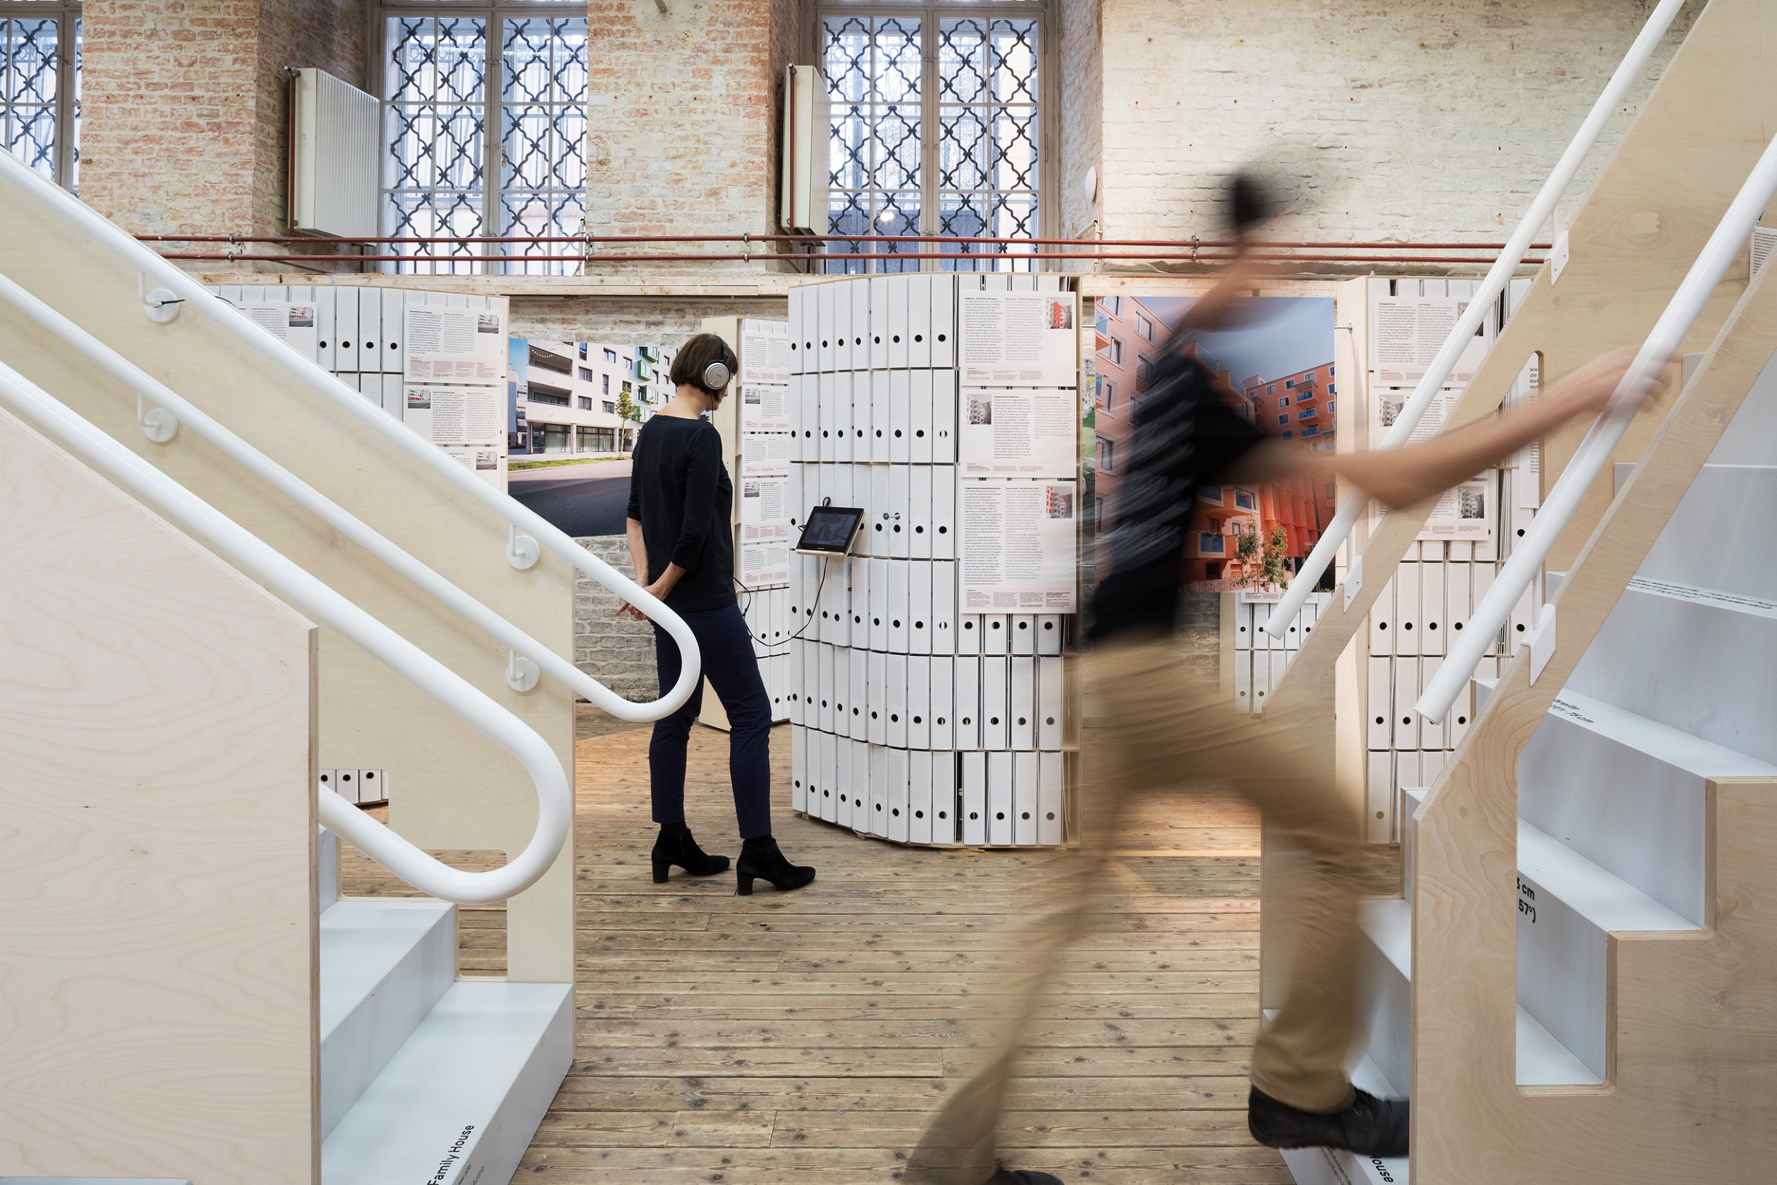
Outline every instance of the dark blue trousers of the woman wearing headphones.
[[[729, 712], [729, 782], [734, 783], [734, 817], [741, 839], [771, 835], [771, 698], [759, 677], [753, 640], [741, 606], [681, 613], [697, 636], [704, 677]], [[661, 695], [679, 682], [679, 647], [654, 627], [654, 664]], [[684, 748], [691, 725], [704, 709], [704, 684], [673, 712], [654, 721], [649, 741], [649, 783], [654, 791], [654, 823], [684, 823]]]

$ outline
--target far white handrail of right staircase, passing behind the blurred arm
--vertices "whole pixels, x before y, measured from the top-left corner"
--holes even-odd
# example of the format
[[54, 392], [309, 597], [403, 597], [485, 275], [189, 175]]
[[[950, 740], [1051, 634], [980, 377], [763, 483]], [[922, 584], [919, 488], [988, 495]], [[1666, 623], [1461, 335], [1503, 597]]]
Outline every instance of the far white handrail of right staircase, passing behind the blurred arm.
[[[1592, 103], [1592, 110], [1587, 112], [1585, 121], [1574, 133], [1573, 142], [1567, 144], [1567, 151], [1562, 153], [1553, 172], [1550, 172], [1548, 181], [1544, 181], [1542, 188], [1537, 192], [1535, 201], [1530, 203], [1525, 217], [1518, 222], [1518, 229], [1512, 231], [1512, 238], [1507, 240], [1505, 251], [1502, 251], [1500, 258], [1494, 259], [1493, 268], [1487, 272], [1487, 279], [1480, 284], [1480, 291], [1475, 293], [1473, 300], [1468, 302], [1468, 309], [1464, 309], [1462, 316], [1457, 318], [1457, 323], [1445, 339], [1443, 348], [1438, 350], [1432, 364], [1425, 370], [1425, 377], [1420, 378], [1420, 384], [1413, 389], [1413, 396], [1395, 416], [1393, 426], [1377, 448], [1400, 448], [1407, 442], [1407, 439], [1411, 439], [1413, 430], [1418, 426], [1420, 419], [1425, 418], [1425, 410], [1432, 405], [1432, 400], [1438, 396], [1438, 391], [1450, 377], [1457, 361], [1461, 361], [1462, 350], [1475, 339], [1475, 330], [1480, 329], [1480, 322], [1487, 316], [1487, 309], [1493, 307], [1493, 302], [1498, 300], [1502, 291], [1505, 291], [1505, 284], [1512, 279], [1512, 274], [1523, 261], [1525, 252], [1530, 251], [1530, 242], [1535, 238], [1542, 224], [1555, 213], [1555, 203], [1560, 201], [1562, 194], [1573, 183], [1573, 178], [1580, 172], [1580, 165], [1583, 165], [1585, 158], [1592, 153], [1605, 124], [1610, 123], [1612, 114], [1615, 114], [1622, 98], [1630, 92], [1630, 87], [1642, 80], [1642, 71], [1653, 59], [1654, 50], [1660, 48], [1660, 39], [1665, 37], [1667, 28], [1672, 27], [1672, 21], [1677, 18], [1681, 7], [1685, 7], [1685, 0], [1661, 0], [1660, 7], [1656, 7], [1647, 18], [1647, 25], [1642, 27], [1640, 36], [1622, 57], [1622, 64], [1617, 66], [1610, 82], [1605, 84], [1598, 101]], [[1278, 600], [1271, 620], [1265, 622], [1265, 632], [1272, 638], [1283, 638], [1283, 632], [1288, 629], [1287, 624], [1295, 620], [1303, 602], [1308, 600], [1308, 593], [1311, 593], [1315, 585], [1320, 583], [1320, 574], [1333, 563], [1333, 554], [1338, 551], [1340, 544], [1351, 537], [1351, 529], [1358, 524], [1358, 519], [1363, 517], [1363, 508], [1368, 503], [1370, 496], [1363, 490], [1354, 490], [1343, 503], [1340, 503], [1338, 512], [1333, 515], [1333, 522], [1329, 522], [1320, 533], [1320, 538], [1315, 542], [1313, 549], [1310, 549], [1308, 558], [1303, 560], [1301, 570]], [[1345, 604], [1351, 604], [1361, 585], [1363, 558], [1358, 556], [1345, 572]]]

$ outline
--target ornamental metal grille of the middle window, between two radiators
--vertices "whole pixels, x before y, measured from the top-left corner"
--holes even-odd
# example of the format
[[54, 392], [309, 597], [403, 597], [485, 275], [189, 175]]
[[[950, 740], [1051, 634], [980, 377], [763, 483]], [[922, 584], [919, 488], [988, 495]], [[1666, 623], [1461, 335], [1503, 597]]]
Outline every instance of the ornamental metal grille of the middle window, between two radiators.
[[[581, 236], [586, 219], [586, 5], [382, 5], [382, 231]], [[391, 243], [419, 274], [578, 275], [576, 243]], [[487, 256], [487, 258], [483, 258]]]

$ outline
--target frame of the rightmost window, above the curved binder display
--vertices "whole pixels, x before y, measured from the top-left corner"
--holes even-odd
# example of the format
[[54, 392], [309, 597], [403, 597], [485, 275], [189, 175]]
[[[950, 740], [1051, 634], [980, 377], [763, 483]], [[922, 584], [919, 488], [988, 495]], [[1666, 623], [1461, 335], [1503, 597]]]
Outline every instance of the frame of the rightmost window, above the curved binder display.
[[[514, 0], [506, 0], [512, 4]], [[1057, 199], [1057, 172], [1061, 167], [1061, 20], [1059, 20], [1059, 0], [821, 0], [819, 4], [809, 5], [805, 9], [801, 44], [803, 60], [816, 62], [823, 73], [825, 85], [825, 64], [826, 64], [826, 20], [833, 16], [855, 16], [855, 18], [903, 18], [919, 20], [919, 37], [920, 37], [920, 94], [919, 94], [919, 121], [920, 121], [920, 142], [919, 142], [919, 235], [938, 235], [940, 233], [940, 215], [938, 215], [938, 110], [942, 107], [938, 99], [936, 85], [936, 68], [938, 68], [938, 21], [976, 16], [984, 21], [995, 18], [1013, 18], [1013, 20], [1036, 20], [1036, 69], [1038, 69], [1038, 94], [1036, 94], [1036, 226], [1031, 227], [1032, 238], [1061, 238], [1059, 227], [1061, 203]], [[849, 240], [835, 238], [828, 247], [848, 243]], [[892, 243], [871, 243], [874, 247], [892, 247]], [[917, 251], [908, 251], [904, 254], [938, 254], [944, 243], [912, 243]], [[977, 243], [977, 251], [986, 247], [986, 243]], [[1032, 247], [1031, 251], [1040, 251]], [[876, 252], [871, 252], [873, 256]], [[816, 256], [819, 258], [819, 256]], [[1020, 252], [1008, 251], [1006, 254], [988, 254], [981, 251], [979, 254], [956, 252], [954, 259], [908, 259], [906, 266], [897, 266], [894, 272], [1041, 272], [1043, 259], [1024, 259], [1020, 266]], [[860, 270], [851, 272], [855, 275], [885, 275], [890, 274], [880, 266], [881, 259], [894, 259], [894, 254], [883, 252], [873, 259], [839, 259], [837, 265], [846, 265], [844, 270], [849, 272], [851, 266], [862, 265]], [[917, 263], [919, 266], [912, 266]], [[949, 265], [949, 266], [947, 266]]]

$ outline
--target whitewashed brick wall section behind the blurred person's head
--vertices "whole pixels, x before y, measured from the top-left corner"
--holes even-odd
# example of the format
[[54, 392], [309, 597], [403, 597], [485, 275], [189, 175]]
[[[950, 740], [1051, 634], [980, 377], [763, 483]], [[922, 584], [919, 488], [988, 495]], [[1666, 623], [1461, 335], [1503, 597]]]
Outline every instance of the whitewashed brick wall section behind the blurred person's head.
[[[1281, 238], [1498, 240], [1647, 20], [1647, 0], [1409, 0], [1386, 7], [1104, 4], [1104, 222], [1205, 238], [1219, 181], [1271, 149], [1295, 165]], [[1633, 115], [1679, 28], [1626, 105]], [[1578, 208], [1619, 115], [1571, 190]]]

